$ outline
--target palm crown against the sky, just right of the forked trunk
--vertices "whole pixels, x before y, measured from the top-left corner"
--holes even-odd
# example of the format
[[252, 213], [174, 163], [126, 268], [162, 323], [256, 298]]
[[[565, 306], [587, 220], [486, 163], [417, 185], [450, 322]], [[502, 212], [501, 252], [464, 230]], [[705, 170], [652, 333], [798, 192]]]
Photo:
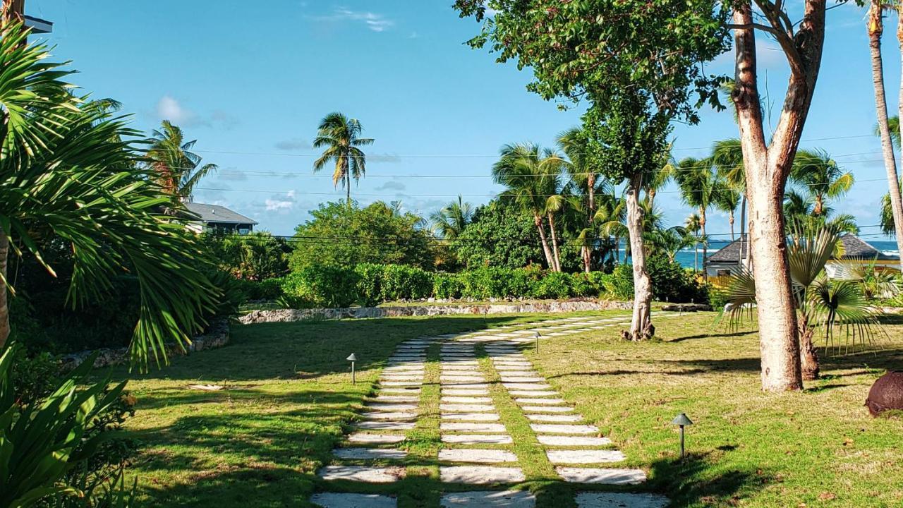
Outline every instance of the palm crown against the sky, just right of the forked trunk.
[[853, 176], [844, 172], [824, 150], [796, 152], [790, 182], [812, 197], [813, 215], [822, 215], [826, 202], [850, 192]]

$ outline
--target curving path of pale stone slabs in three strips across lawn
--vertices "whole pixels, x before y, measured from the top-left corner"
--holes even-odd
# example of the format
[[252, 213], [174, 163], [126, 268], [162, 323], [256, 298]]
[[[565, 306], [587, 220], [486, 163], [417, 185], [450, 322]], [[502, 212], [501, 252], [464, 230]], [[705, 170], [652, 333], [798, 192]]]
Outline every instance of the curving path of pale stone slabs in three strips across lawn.
[[[657, 317], [675, 314], [653, 313]], [[477, 346], [489, 355], [500, 385], [507, 390], [524, 417], [549, 462], [563, 481], [576, 484], [633, 485], [646, 481], [641, 469], [619, 468], [625, 460], [612, 449], [608, 437], [586, 422], [548, 384], [521, 353], [538, 342], [570, 334], [595, 333], [621, 326], [630, 316], [609, 318], [568, 317], [525, 325], [505, 325], [470, 334], [442, 334], [405, 341], [389, 357], [379, 379], [377, 394], [365, 402], [357, 429], [348, 443], [333, 450], [334, 461], [318, 475], [326, 482], [368, 484], [393, 483], [405, 477], [402, 449], [405, 431], [415, 427], [422, 413], [426, 350], [440, 345], [439, 429], [443, 443], [439, 451], [439, 477], [445, 484], [513, 485], [526, 481], [517, 466], [514, 440], [507, 433], [490, 396], [490, 384], [477, 361]], [[542, 344], [538, 344], [540, 351]], [[424, 404], [430, 401], [424, 400]], [[435, 403], [435, 402], [433, 402]], [[535, 446], [535, 445], [534, 445]], [[490, 488], [495, 488], [490, 487]], [[485, 489], [485, 487], [484, 487]], [[372, 491], [371, 491], [372, 492]], [[392, 495], [320, 493], [311, 502], [322, 508], [396, 508]], [[585, 492], [576, 496], [579, 508], [664, 508], [665, 496], [627, 492]], [[534, 508], [535, 496], [517, 490], [474, 490], [442, 494], [442, 508], [506, 507]]]

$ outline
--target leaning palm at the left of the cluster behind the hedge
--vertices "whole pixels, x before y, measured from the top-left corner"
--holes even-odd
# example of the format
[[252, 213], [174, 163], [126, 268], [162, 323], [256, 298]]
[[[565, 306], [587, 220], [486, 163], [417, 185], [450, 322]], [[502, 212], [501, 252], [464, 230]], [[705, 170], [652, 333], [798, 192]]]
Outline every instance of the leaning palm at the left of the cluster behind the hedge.
[[507, 187], [499, 197], [513, 200], [521, 209], [533, 215], [546, 265], [557, 271], [558, 265], [552, 249], [549, 248], [543, 219], [551, 212], [551, 209], [547, 208], [548, 198], [552, 194], [549, 193], [549, 189], [557, 185], [556, 181], [551, 185], [546, 182], [553, 173], [549, 170], [549, 166], [560, 167], [561, 159], [552, 151], [544, 150], [537, 145], [505, 145], [499, 152], [501, 156], [498, 162], [492, 165], [492, 179], [495, 183]]

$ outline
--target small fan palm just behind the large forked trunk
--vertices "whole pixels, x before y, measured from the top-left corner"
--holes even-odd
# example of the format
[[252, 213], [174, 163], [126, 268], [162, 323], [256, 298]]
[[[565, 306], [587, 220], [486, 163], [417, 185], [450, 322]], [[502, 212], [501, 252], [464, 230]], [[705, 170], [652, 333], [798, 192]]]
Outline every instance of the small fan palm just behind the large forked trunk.
[[[850, 280], [825, 276], [829, 259], [842, 256], [840, 232], [830, 227], [795, 231], [787, 242], [794, 301], [798, 314], [801, 371], [807, 380], [819, 375], [815, 332], [822, 330], [827, 346], [834, 345], [835, 332], [842, 329], [844, 344], [838, 348], [871, 343], [879, 331], [875, 310], [862, 294], [861, 286]], [[749, 272], [731, 276], [726, 291], [731, 325], [742, 319], [745, 308], [756, 303], [756, 283]]]

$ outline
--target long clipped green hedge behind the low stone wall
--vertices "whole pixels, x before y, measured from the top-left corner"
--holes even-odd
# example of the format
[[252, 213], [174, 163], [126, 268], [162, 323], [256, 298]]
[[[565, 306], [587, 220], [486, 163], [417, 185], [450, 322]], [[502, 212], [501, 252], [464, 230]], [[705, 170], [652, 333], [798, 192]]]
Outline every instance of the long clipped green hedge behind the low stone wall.
[[[704, 301], [695, 278], [667, 259], [649, 263], [655, 297], [671, 302]], [[570, 298], [610, 295], [633, 297], [629, 265], [614, 273], [559, 273], [539, 268], [479, 268], [433, 273], [406, 265], [360, 264], [355, 268], [308, 266], [281, 280], [284, 304], [300, 307], [376, 306], [383, 302], [470, 298]]]

